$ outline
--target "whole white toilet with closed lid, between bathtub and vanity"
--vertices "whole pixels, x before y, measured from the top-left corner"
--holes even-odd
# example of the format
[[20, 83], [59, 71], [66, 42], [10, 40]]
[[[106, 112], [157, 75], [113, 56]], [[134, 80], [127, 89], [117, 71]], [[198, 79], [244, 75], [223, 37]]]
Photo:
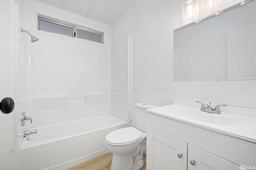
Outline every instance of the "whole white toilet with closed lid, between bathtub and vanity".
[[[146, 149], [146, 109], [158, 107], [150, 104], [136, 103], [138, 117], [144, 117], [141, 125], [125, 127], [112, 131], [105, 138], [106, 148], [113, 154], [111, 170], [140, 170], [144, 162]], [[136, 118], [136, 116], [135, 116]]]

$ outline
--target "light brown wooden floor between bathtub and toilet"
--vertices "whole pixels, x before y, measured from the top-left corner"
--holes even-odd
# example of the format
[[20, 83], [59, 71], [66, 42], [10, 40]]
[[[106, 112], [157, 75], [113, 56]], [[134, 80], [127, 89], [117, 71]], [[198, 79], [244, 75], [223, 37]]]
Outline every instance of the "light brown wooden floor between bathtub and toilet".
[[[65, 170], [110, 170], [112, 156], [112, 153], [106, 152]], [[143, 155], [143, 161], [144, 166], [141, 170], [146, 170], [146, 154]]]

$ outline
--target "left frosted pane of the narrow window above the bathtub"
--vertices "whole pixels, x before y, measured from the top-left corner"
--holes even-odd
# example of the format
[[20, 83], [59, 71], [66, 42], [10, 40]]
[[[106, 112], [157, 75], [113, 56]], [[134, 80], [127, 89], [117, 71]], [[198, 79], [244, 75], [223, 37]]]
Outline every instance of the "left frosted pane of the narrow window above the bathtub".
[[58, 23], [53, 23], [50, 21], [44, 21], [44, 20], [39, 20], [39, 30], [43, 30], [43, 31], [48, 31], [51, 33], [58, 33], [58, 34], [62, 34], [62, 35], [67, 35], [70, 37], [73, 37], [74, 33], [73, 33], [73, 29], [74, 27], [68, 27], [66, 25], [60, 25]]

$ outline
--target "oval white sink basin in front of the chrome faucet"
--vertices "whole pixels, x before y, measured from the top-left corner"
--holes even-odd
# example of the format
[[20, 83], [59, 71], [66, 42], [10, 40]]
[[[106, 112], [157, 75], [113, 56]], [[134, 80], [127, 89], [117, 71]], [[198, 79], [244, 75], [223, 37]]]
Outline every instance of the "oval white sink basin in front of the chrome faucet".
[[238, 123], [238, 120], [232, 117], [227, 117], [222, 114], [196, 111], [192, 109], [180, 109], [176, 111], [175, 114], [178, 114], [180, 117], [184, 117], [184, 119], [194, 119], [205, 123], [212, 123], [218, 125], [234, 125]]

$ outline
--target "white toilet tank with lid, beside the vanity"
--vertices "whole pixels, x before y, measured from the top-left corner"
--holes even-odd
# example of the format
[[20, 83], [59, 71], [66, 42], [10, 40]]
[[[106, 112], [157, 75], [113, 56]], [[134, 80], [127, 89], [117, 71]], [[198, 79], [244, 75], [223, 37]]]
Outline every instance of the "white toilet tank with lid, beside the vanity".
[[146, 104], [146, 103], [135, 103], [134, 104], [134, 114], [133, 114], [133, 121], [135, 122], [135, 127], [143, 132], [146, 133], [147, 131], [147, 112], [146, 109], [151, 109], [155, 106], [152, 104]]

